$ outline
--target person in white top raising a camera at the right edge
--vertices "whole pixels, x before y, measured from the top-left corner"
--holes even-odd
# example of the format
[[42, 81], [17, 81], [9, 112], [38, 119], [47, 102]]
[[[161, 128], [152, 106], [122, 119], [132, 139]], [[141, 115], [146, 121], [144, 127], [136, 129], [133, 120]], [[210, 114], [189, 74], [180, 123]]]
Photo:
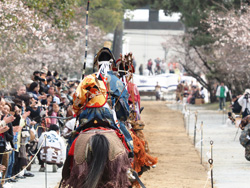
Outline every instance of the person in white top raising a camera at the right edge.
[[250, 89], [246, 89], [244, 94], [238, 99], [242, 109], [242, 118], [250, 115]]

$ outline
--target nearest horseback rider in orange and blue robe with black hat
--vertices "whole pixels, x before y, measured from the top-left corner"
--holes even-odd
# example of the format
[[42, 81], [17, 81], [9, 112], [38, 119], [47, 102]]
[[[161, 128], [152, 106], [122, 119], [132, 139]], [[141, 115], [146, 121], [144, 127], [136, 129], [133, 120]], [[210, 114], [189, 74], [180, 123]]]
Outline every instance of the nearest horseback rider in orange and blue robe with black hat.
[[[133, 140], [125, 126], [129, 116], [128, 92], [125, 85], [112, 71], [115, 58], [108, 48], [102, 48], [96, 55], [94, 66], [97, 74], [88, 75], [79, 84], [73, 98], [73, 109], [79, 116], [82, 130], [95, 117], [109, 122], [111, 129], [125, 137], [125, 147], [133, 155]], [[87, 96], [87, 97], [86, 97]]]

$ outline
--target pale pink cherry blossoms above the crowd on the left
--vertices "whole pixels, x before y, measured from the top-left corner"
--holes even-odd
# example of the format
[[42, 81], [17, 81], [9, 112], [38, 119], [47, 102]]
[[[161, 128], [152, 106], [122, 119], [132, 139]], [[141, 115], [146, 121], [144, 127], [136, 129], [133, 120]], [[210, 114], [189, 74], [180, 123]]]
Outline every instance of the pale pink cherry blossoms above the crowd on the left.
[[[42, 64], [51, 70], [80, 72], [85, 47], [85, 19], [75, 8], [69, 27], [57, 27], [20, 0], [0, 1], [0, 88], [11, 88]], [[77, 14], [78, 13], [78, 14]], [[103, 45], [105, 33], [90, 25], [90, 53]]]

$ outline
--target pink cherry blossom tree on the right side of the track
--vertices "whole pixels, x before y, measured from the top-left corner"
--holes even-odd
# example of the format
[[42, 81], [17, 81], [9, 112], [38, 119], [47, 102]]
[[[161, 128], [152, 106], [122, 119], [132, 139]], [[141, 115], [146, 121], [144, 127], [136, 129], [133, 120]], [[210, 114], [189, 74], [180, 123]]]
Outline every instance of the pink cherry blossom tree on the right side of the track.
[[221, 81], [233, 94], [242, 94], [250, 87], [249, 13], [250, 7], [246, 5], [239, 10], [225, 8], [223, 12], [210, 12], [203, 22], [214, 39], [211, 44], [190, 45], [194, 37], [191, 33], [185, 33], [181, 41], [171, 42], [171, 48], [178, 52], [174, 60], [208, 89], [211, 101], [215, 100], [215, 86]]

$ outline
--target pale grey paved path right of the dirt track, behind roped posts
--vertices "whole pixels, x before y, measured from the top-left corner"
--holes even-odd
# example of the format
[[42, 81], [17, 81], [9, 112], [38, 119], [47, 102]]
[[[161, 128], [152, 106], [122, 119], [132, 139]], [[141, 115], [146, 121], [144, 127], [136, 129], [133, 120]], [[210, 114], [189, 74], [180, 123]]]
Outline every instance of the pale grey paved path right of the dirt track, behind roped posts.
[[[168, 104], [174, 110], [183, 110], [181, 105]], [[185, 108], [184, 108], [185, 109]], [[206, 110], [202, 106], [188, 105], [190, 109], [190, 120], [186, 114], [187, 133], [190, 139], [194, 140], [195, 112], [198, 112], [196, 149], [201, 154], [201, 131], [200, 125], [203, 121], [204, 146], [202, 149], [202, 161], [209, 167], [207, 161], [211, 156], [210, 141], [213, 140], [213, 174], [216, 188], [249, 188], [250, 162], [244, 157], [245, 149], [239, 143], [239, 130], [234, 140], [237, 128], [234, 125], [226, 125], [226, 112]], [[188, 126], [189, 124], [189, 126]], [[210, 181], [210, 179], [209, 179]]]

